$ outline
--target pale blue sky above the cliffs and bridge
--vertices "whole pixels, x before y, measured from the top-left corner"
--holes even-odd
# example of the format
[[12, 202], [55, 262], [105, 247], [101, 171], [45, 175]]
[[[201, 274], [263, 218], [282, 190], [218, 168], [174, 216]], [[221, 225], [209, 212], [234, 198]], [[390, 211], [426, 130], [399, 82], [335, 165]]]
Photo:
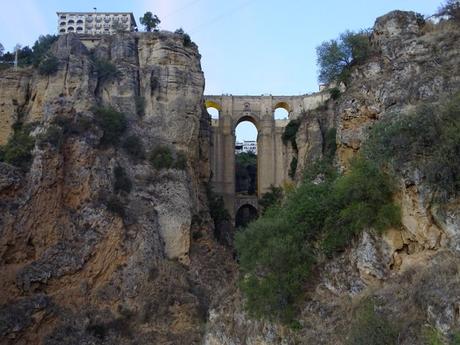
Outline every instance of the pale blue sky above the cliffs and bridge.
[[[161, 29], [182, 27], [202, 55], [207, 94], [299, 95], [317, 91], [315, 48], [370, 28], [391, 10], [433, 14], [441, 0], [21, 0], [3, 1], [0, 43], [31, 45], [57, 32], [56, 11], [145, 11]], [[248, 132], [249, 133], [249, 132]], [[249, 135], [249, 134], [248, 134]], [[252, 134], [254, 135], [254, 134]], [[240, 138], [241, 139], [241, 138]]]

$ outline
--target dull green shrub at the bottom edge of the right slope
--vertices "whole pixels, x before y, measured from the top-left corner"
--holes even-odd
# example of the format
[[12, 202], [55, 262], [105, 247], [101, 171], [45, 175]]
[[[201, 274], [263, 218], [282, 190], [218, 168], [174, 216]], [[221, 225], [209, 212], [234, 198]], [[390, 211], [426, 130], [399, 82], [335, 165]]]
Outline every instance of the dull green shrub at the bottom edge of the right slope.
[[396, 326], [383, 315], [376, 313], [374, 303], [366, 300], [355, 311], [347, 344], [397, 344], [398, 335]]

